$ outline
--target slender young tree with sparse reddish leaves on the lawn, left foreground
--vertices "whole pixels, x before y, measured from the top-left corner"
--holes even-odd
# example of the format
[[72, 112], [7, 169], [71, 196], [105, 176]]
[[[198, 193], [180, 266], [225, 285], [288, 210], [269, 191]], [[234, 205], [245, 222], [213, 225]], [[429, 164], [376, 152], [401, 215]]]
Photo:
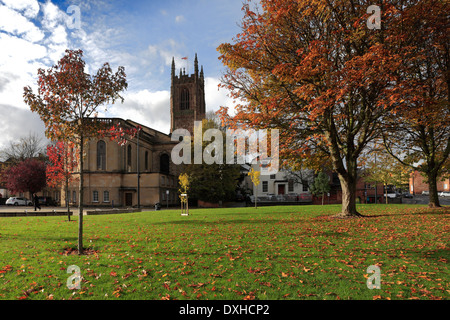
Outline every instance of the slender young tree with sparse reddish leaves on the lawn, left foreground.
[[108, 123], [97, 121], [100, 106], [123, 102], [120, 92], [127, 88], [123, 67], [113, 73], [105, 63], [95, 75], [85, 72], [82, 50], [66, 50], [58, 63], [48, 70], [38, 70], [38, 91], [24, 88], [24, 100], [39, 114], [52, 141], [73, 139], [78, 153], [79, 222], [78, 252], [83, 253], [84, 144], [98, 137]]

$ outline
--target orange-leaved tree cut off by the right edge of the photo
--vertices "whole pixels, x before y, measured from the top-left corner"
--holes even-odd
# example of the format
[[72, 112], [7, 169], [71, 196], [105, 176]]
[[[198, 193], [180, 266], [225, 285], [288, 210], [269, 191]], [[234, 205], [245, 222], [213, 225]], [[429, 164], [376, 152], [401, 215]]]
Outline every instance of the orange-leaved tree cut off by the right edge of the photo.
[[[414, 5], [407, 5], [413, 3]], [[437, 180], [450, 172], [450, 2], [405, 1], [386, 42], [402, 57], [395, 84], [395, 117], [383, 130], [387, 151], [419, 171], [429, 206], [439, 207]]]

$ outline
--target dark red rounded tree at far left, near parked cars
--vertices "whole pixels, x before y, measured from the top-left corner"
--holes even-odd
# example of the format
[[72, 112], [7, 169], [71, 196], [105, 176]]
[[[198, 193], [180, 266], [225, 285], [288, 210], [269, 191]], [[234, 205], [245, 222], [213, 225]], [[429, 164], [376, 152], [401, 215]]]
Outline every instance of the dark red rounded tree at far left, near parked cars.
[[45, 162], [38, 159], [26, 159], [5, 170], [6, 187], [13, 193], [29, 192], [30, 195], [46, 186]]

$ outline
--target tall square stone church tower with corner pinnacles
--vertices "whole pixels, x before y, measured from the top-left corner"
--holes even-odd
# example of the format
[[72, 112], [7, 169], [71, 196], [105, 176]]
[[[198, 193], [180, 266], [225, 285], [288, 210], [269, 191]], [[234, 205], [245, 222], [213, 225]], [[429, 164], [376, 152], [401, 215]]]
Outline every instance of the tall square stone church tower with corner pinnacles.
[[194, 121], [205, 118], [205, 79], [203, 66], [199, 72], [197, 54], [194, 60], [194, 74], [187, 75], [180, 69], [175, 74], [175, 59], [172, 58], [170, 86], [170, 133], [176, 129], [187, 129], [194, 134]]

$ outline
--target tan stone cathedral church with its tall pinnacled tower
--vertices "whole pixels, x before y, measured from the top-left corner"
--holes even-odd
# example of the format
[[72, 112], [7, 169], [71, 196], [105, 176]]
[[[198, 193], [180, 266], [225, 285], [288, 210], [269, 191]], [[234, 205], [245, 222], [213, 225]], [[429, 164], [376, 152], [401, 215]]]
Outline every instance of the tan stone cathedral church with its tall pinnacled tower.
[[[199, 70], [197, 55], [194, 74], [175, 71], [172, 59], [170, 87], [170, 133], [188, 129], [193, 134], [194, 121], [205, 118], [205, 79]], [[168, 110], [169, 111], [169, 110]], [[124, 146], [109, 139], [87, 142], [84, 162], [84, 205], [93, 207], [149, 207], [156, 203], [178, 203], [178, 172], [170, 156], [178, 141], [171, 134], [144, 126], [134, 120], [103, 118], [109, 124], [126, 128], [141, 127], [139, 135]], [[77, 205], [78, 183], [69, 186], [68, 201]], [[61, 205], [66, 203], [61, 192]]]

